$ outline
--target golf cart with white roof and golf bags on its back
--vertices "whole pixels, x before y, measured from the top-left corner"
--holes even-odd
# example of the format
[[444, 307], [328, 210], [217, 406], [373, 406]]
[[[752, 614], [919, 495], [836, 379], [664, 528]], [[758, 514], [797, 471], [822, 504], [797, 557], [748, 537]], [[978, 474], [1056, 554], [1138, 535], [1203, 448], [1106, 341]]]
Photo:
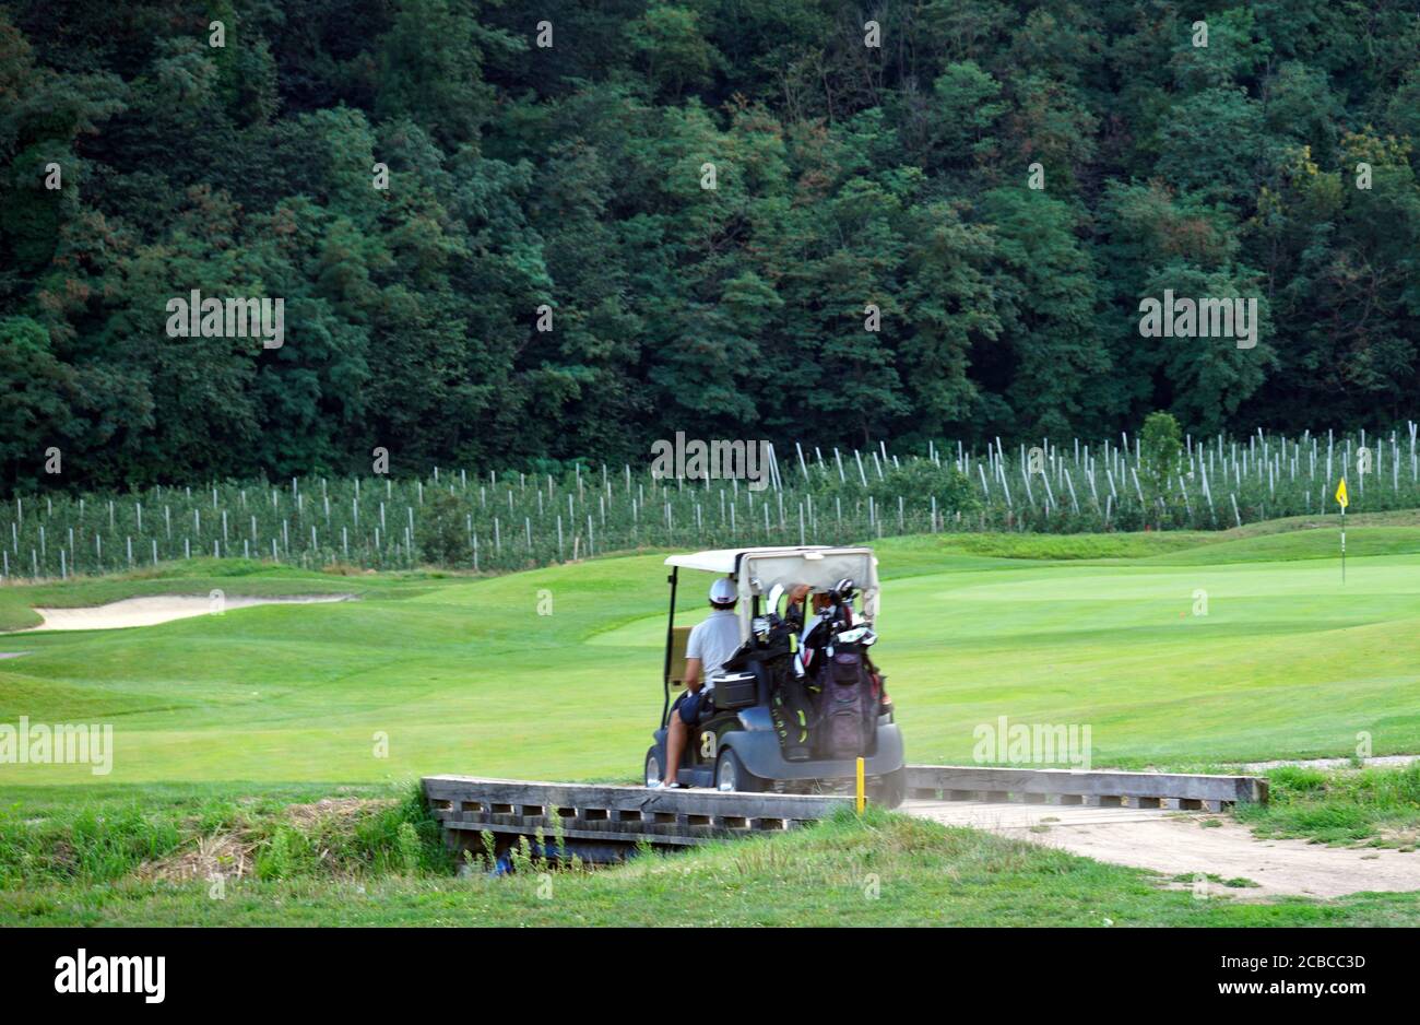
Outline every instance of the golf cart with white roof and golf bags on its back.
[[[878, 559], [872, 549], [736, 548], [672, 555], [666, 565], [670, 616], [662, 674], [665, 700], [655, 744], [646, 752], [646, 785], [655, 786], [662, 779], [672, 691], [684, 687], [692, 627], [676, 626], [676, 586], [682, 569], [694, 569], [734, 583], [741, 647], [714, 677], [710, 700], [701, 703], [697, 721], [689, 724], [677, 781], [720, 791], [852, 794], [862, 757], [869, 799], [888, 808], [902, 804], [906, 788], [902, 733], [893, 723], [880, 676], [859, 673], [862, 693], [870, 693], [870, 704], [863, 697], [852, 706], [861, 710], [855, 711], [861, 730], [849, 733], [852, 740], [845, 744], [838, 728], [843, 721], [839, 696], [855, 686], [843, 667], [861, 663], [875, 669], [866, 656], [866, 645], [876, 640], [872, 620], [878, 613]], [[795, 585], [808, 585], [811, 596], [791, 606], [784, 596]], [[861, 599], [856, 612], [855, 596]], [[805, 626], [821, 632], [811, 635]], [[805, 657], [816, 659], [812, 673], [802, 672], [802, 637], [819, 642], [816, 649], [804, 652]], [[797, 704], [787, 706], [785, 696], [791, 691], [799, 697]], [[829, 724], [831, 716], [839, 721]]]

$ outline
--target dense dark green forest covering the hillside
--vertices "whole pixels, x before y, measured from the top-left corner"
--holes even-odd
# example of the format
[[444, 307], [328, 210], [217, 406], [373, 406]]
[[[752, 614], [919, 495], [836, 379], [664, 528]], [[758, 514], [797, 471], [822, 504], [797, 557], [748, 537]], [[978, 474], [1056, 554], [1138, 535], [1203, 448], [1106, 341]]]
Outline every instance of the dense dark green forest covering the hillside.
[[[1417, 10], [0, 1], [0, 483], [1390, 427]], [[1258, 344], [1140, 336], [1166, 290]]]

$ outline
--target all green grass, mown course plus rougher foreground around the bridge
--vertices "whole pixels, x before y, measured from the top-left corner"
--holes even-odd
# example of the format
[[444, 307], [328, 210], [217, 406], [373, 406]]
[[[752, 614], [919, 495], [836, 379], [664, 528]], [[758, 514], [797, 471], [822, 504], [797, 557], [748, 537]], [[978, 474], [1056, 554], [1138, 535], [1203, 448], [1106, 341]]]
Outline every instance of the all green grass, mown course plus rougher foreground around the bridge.
[[[1096, 765], [1350, 755], [1360, 731], [1376, 754], [1420, 751], [1420, 525], [1352, 527], [1345, 589], [1335, 531], [1292, 527], [879, 542], [879, 660], [909, 757], [970, 761], [973, 728], [1000, 716], [1089, 725]], [[683, 622], [707, 583], [690, 575]], [[21, 653], [0, 660], [0, 723], [111, 723], [115, 745], [105, 777], [0, 765], [0, 923], [1252, 926], [1420, 913], [1413, 893], [1198, 901], [1133, 869], [905, 816], [558, 876], [555, 901], [535, 876], [457, 880], [419, 802], [398, 801], [415, 777], [635, 778], [660, 711], [662, 555], [500, 578], [196, 562], [0, 588], [0, 622], [213, 588], [358, 601], [0, 637], [0, 652]], [[1203, 592], [1207, 615], [1194, 615]], [[1309, 794], [1268, 828], [1321, 835], [1318, 821], [1332, 829], [1348, 812]], [[327, 795], [390, 811], [285, 818]], [[1409, 829], [1413, 801], [1402, 804], [1350, 808], [1338, 836], [1377, 816]], [[223, 836], [257, 866], [223, 900], [202, 877], [141, 869]]]

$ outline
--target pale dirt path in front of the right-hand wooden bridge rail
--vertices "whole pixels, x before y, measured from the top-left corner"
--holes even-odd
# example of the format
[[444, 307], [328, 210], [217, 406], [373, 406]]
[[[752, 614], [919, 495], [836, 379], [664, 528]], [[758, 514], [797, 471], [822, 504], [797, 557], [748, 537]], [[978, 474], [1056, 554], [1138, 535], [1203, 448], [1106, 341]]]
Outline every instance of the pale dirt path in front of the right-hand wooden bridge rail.
[[[1250, 879], [1255, 887], [1207, 883], [1238, 899], [1420, 890], [1420, 853], [1328, 848], [1306, 840], [1258, 840], [1227, 816], [1150, 808], [909, 801], [905, 812], [946, 825], [990, 829], [1115, 865], [1173, 876]], [[1221, 822], [1204, 828], [1206, 819]], [[1187, 884], [1187, 883], [1186, 883]]]

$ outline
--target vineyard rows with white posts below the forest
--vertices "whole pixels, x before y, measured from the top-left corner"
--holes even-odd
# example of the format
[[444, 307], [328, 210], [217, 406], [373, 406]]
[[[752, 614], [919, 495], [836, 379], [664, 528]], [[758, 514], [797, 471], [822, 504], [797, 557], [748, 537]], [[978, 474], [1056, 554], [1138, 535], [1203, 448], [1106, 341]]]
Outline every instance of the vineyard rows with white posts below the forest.
[[435, 468], [427, 477], [295, 477], [128, 494], [17, 495], [0, 510], [4, 579], [67, 579], [195, 557], [320, 568], [513, 571], [611, 551], [851, 544], [951, 531], [1223, 530], [1420, 507], [1416, 423], [1389, 436], [1181, 439], [985, 451], [770, 449], [768, 476], [666, 478], [645, 467], [561, 474]]

